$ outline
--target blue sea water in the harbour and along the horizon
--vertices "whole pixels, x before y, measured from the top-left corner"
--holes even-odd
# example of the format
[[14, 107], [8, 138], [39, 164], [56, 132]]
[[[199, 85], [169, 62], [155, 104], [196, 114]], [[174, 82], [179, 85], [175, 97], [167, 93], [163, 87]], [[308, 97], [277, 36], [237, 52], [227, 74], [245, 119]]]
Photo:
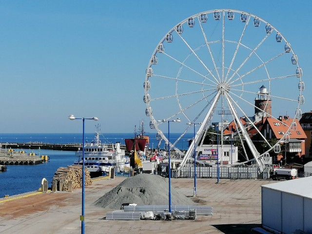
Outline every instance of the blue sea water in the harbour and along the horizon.
[[[170, 134], [170, 141], [174, 142], [180, 134]], [[125, 138], [133, 138], [133, 133], [110, 133], [100, 134], [102, 143], [120, 142], [124, 144]], [[186, 134], [176, 144], [179, 149], [186, 150], [188, 148], [188, 139], [192, 138], [193, 134]], [[149, 149], [156, 149], [158, 141], [155, 134], [150, 134]], [[94, 139], [94, 134], [86, 133], [85, 141]], [[82, 134], [0, 134], [0, 142], [8, 143], [26, 143], [26, 142], [41, 142], [41, 143], [80, 143], [82, 142]], [[5, 146], [2, 146], [4, 150]], [[164, 149], [164, 141], [161, 142], [161, 149]], [[48, 186], [52, 185], [52, 178], [59, 167], [67, 167], [72, 165], [76, 160], [75, 152], [70, 151], [52, 151], [52, 150], [23, 150], [26, 153], [35, 153], [36, 155], [47, 155], [50, 160], [37, 165], [7, 165], [6, 172], [0, 172], [0, 197], [4, 195], [17, 195], [36, 191], [41, 187], [41, 180], [48, 180]]]

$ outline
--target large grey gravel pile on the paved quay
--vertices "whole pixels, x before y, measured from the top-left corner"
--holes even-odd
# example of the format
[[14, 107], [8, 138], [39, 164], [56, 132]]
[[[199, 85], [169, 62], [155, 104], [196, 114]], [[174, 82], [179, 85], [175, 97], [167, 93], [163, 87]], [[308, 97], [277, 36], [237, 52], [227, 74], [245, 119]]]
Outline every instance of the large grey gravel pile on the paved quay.
[[[168, 178], [157, 175], [139, 174], [122, 181], [114, 189], [101, 196], [95, 206], [104, 209], [120, 209], [122, 203], [137, 205], [167, 205]], [[180, 195], [171, 187], [172, 205], [195, 205], [185, 195]]]

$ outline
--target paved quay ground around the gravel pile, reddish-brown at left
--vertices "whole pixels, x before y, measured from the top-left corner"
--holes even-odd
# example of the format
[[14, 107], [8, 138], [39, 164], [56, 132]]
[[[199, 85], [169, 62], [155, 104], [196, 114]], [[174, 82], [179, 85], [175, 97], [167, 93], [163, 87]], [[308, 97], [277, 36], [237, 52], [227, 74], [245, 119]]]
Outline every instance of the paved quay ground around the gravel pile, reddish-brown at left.
[[[261, 185], [274, 183], [261, 179], [197, 179], [198, 205], [213, 207], [213, 215], [197, 215], [195, 220], [106, 220], [104, 210], [94, 205], [127, 177], [100, 177], [85, 188], [86, 233], [171, 233], [244, 234], [261, 226]], [[194, 179], [172, 178], [172, 187], [188, 197], [193, 195]], [[131, 201], [129, 201], [131, 202]], [[164, 200], [164, 205], [168, 201]], [[0, 233], [77, 234], [81, 230], [81, 189], [73, 192], [31, 192], [0, 198]]]

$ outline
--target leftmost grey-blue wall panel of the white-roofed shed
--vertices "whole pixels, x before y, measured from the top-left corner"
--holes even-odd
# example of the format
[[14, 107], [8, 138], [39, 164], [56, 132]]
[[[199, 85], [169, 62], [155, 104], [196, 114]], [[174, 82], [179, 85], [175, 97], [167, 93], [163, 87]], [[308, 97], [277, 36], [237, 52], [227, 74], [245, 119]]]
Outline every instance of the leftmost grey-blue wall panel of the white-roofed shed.
[[268, 188], [261, 189], [262, 225], [281, 232], [282, 193]]

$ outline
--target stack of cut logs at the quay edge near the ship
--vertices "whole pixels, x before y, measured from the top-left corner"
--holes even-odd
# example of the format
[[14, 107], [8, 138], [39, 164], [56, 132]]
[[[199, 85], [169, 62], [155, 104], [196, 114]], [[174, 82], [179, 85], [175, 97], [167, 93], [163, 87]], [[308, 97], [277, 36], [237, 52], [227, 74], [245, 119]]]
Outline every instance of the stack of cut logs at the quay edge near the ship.
[[[92, 179], [88, 169], [84, 168], [84, 185], [91, 185]], [[73, 189], [82, 187], [82, 166], [80, 165], [71, 165], [68, 167], [59, 167], [56, 173], [53, 176], [53, 180], [57, 181], [59, 188], [60, 180], [63, 180], [63, 187], [59, 188], [59, 191], [68, 190], [68, 181], [73, 181]]]

